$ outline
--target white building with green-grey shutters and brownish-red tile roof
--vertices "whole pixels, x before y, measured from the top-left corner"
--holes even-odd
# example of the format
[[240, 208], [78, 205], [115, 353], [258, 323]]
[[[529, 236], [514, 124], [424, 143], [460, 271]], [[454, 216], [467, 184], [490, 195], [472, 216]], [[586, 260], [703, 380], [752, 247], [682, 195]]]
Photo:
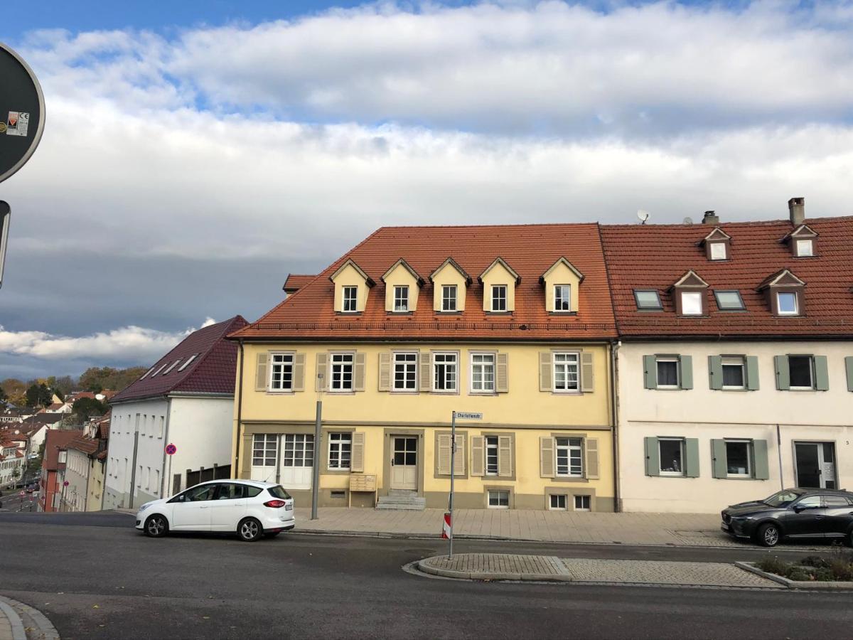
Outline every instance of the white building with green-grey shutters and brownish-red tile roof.
[[716, 512], [853, 488], [853, 218], [603, 226], [619, 503]]

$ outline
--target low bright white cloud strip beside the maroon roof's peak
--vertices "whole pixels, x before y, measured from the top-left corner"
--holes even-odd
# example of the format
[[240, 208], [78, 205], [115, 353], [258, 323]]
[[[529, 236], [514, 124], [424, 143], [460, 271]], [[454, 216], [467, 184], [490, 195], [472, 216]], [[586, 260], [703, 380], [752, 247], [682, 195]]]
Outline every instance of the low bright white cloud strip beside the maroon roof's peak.
[[[201, 326], [215, 322], [208, 317]], [[154, 362], [194, 330], [169, 333], [128, 326], [73, 338], [44, 331], [6, 331], [0, 326], [0, 353], [44, 360], [98, 358], [106, 362]]]

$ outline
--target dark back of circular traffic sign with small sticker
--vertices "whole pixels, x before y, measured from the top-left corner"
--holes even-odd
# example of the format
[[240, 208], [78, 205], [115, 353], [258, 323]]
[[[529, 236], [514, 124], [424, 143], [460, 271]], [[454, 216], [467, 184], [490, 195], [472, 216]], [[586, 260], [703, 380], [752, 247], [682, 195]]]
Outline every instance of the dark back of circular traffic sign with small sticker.
[[44, 95], [35, 73], [0, 43], [0, 182], [18, 171], [44, 131]]

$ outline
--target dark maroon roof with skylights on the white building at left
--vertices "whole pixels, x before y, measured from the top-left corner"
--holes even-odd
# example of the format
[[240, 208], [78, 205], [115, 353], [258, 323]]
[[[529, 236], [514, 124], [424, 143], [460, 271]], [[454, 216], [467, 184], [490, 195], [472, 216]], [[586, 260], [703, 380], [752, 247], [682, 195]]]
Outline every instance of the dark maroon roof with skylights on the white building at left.
[[[234, 393], [237, 346], [225, 336], [246, 325], [242, 316], [235, 316], [194, 331], [160, 358], [147, 375], [116, 393], [110, 403], [177, 392]], [[189, 366], [179, 370], [193, 355]], [[180, 362], [171, 367], [176, 361]]]

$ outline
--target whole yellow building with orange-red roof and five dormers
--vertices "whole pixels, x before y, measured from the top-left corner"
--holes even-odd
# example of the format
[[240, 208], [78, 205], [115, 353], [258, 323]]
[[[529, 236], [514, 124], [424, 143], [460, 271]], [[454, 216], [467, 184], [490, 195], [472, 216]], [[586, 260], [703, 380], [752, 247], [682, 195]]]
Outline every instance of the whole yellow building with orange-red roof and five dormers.
[[[595, 224], [376, 231], [240, 341], [236, 476], [322, 506], [614, 505], [615, 338]], [[375, 492], [374, 492], [375, 491]]]

